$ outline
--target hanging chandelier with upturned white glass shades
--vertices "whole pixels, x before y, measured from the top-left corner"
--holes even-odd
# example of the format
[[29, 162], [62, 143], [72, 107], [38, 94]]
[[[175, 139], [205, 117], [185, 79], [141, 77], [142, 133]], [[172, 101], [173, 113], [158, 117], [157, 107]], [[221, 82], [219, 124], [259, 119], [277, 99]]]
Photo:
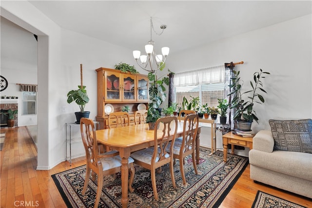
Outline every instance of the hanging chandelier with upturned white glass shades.
[[[154, 73], [155, 71], [161, 69], [165, 66], [165, 62], [167, 59], [167, 56], [169, 54], [169, 47], [162, 47], [161, 48], [161, 53], [160, 54], [156, 54], [154, 51], [154, 41], [152, 40], [152, 29], [154, 30], [154, 32], [157, 35], [161, 35], [164, 31], [164, 29], [167, 28], [167, 25], [162, 24], [160, 26], [160, 28], [162, 29], [160, 34], [157, 34], [154, 26], [153, 26], [153, 21], [152, 21], [152, 17], [151, 17], [151, 40], [148, 42], [147, 45], [145, 45], [145, 52], [147, 55], [141, 55], [140, 51], [133, 51], [133, 57], [135, 58], [135, 60], [137, 61], [137, 64], [139, 67], [141, 67], [142, 69], [152, 72]], [[140, 60], [140, 62], [138, 61]], [[155, 63], [155, 64], [153, 64]], [[153, 68], [154, 67], [154, 68]]]

